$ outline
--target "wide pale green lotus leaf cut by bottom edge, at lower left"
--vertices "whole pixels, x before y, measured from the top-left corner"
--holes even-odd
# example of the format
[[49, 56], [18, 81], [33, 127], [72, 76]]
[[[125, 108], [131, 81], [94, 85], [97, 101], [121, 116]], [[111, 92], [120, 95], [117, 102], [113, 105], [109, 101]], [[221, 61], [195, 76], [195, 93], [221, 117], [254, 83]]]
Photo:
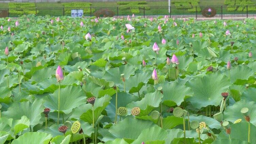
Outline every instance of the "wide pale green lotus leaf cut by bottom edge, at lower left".
[[44, 132], [26, 132], [18, 139], [13, 140], [12, 144], [48, 144], [51, 138], [51, 134]]

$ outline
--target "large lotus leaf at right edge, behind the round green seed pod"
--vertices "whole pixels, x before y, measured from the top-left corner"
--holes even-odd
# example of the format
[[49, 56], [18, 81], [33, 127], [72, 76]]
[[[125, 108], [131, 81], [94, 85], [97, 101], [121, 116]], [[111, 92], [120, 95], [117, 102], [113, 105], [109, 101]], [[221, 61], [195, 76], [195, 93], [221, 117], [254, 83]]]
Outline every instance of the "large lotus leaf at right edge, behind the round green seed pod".
[[250, 122], [256, 125], [256, 103], [246, 100], [241, 100], [232, 106], [227, 106], [224, 111], [224, 120], [234, 123], [237, 119], [242, 119], [243, 122], [246, 122], [243, 114], [240, 112], [243, 107], [249, 108]]

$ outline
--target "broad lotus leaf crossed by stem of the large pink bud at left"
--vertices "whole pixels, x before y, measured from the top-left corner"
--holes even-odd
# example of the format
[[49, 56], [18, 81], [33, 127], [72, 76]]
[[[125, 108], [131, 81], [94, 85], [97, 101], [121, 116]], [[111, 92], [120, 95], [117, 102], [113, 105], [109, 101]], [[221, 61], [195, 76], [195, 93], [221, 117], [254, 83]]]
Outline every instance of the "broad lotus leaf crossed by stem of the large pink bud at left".
[[[58, 111], [58, 96], [59, 89], [55, 90], [53, 94], [44, 97], [44, 106], [51, 110]], [[72, 109], [85, 103], [86, 96], [80, 87], [66, 86], [60, 89], [60, 111], [69, 114]]]

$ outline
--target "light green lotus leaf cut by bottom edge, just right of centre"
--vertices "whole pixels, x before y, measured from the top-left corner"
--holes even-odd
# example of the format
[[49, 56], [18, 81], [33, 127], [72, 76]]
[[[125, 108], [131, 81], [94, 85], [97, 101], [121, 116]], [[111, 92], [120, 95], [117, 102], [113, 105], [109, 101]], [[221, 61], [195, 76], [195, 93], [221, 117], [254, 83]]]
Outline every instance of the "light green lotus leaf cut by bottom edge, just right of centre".
[[168, 133], [161, 127], [151, 127], [141, 131], [138, 139], [132, 142], [132, 144], [139, 144], [140, 142], [155, 143], [156, 141], [164, 141]]

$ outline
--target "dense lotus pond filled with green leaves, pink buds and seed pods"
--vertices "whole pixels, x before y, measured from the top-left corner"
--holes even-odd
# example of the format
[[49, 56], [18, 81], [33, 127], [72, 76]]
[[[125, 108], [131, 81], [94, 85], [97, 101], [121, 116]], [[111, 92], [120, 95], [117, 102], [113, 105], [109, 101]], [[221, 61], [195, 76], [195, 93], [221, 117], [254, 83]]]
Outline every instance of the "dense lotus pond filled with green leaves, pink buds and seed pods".
[[255, 19], [0, 20], [1, 144], [255, 144]]

